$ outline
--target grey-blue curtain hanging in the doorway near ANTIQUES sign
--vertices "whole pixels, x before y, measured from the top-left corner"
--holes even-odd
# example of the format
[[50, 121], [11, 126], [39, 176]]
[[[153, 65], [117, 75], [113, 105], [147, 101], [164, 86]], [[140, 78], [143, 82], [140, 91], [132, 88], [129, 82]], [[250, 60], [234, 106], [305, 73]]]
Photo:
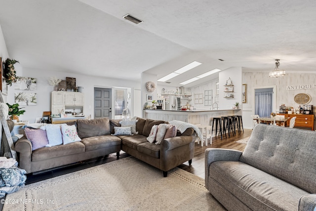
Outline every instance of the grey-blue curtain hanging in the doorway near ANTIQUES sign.
[[272, 112], [273, 91], [255, 93], [255, 114], [259, 117], [270, 117]]

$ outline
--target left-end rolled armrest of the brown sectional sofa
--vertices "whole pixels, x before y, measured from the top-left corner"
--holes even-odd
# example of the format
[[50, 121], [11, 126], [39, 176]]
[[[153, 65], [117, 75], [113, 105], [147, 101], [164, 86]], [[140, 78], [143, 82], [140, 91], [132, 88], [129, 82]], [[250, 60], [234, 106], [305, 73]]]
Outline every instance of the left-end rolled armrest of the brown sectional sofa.
[[19, 167], [31, 172], [32, 143], [25, 136], [15, 143], [15, 151], [19, 153]]

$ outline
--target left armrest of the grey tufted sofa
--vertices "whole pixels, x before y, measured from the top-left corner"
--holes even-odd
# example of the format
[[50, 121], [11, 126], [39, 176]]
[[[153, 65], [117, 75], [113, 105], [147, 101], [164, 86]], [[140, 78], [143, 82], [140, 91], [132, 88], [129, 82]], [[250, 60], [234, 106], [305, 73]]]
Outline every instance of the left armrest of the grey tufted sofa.
[[209, 166], [215, 161], [239, 161], [242, 152], [233, 149], [207, 148], [205, 150], [205, 187], [208, 187]]

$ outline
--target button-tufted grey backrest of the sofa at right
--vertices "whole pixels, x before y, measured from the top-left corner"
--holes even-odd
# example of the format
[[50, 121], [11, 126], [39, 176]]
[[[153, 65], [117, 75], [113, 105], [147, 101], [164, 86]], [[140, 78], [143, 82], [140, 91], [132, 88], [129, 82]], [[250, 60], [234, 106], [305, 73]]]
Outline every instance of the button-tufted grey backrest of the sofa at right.
[[316, 193], [316, 132], [258, 124], [240, 161]]

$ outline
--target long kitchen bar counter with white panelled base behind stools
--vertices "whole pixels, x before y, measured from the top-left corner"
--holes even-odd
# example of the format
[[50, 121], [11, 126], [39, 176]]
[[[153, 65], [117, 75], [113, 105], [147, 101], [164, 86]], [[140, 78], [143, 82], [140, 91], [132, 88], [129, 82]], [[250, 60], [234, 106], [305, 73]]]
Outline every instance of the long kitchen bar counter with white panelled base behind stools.
[[229, 115], [241, 115], [241, 110], [143, 110], [143, 118], [145, 119], [164, 121], [179, 120], [186, 123], [191, 123], [193, 125], [201, 124], [205, 126], [212, 125], [214, 117], [223, 117]]

